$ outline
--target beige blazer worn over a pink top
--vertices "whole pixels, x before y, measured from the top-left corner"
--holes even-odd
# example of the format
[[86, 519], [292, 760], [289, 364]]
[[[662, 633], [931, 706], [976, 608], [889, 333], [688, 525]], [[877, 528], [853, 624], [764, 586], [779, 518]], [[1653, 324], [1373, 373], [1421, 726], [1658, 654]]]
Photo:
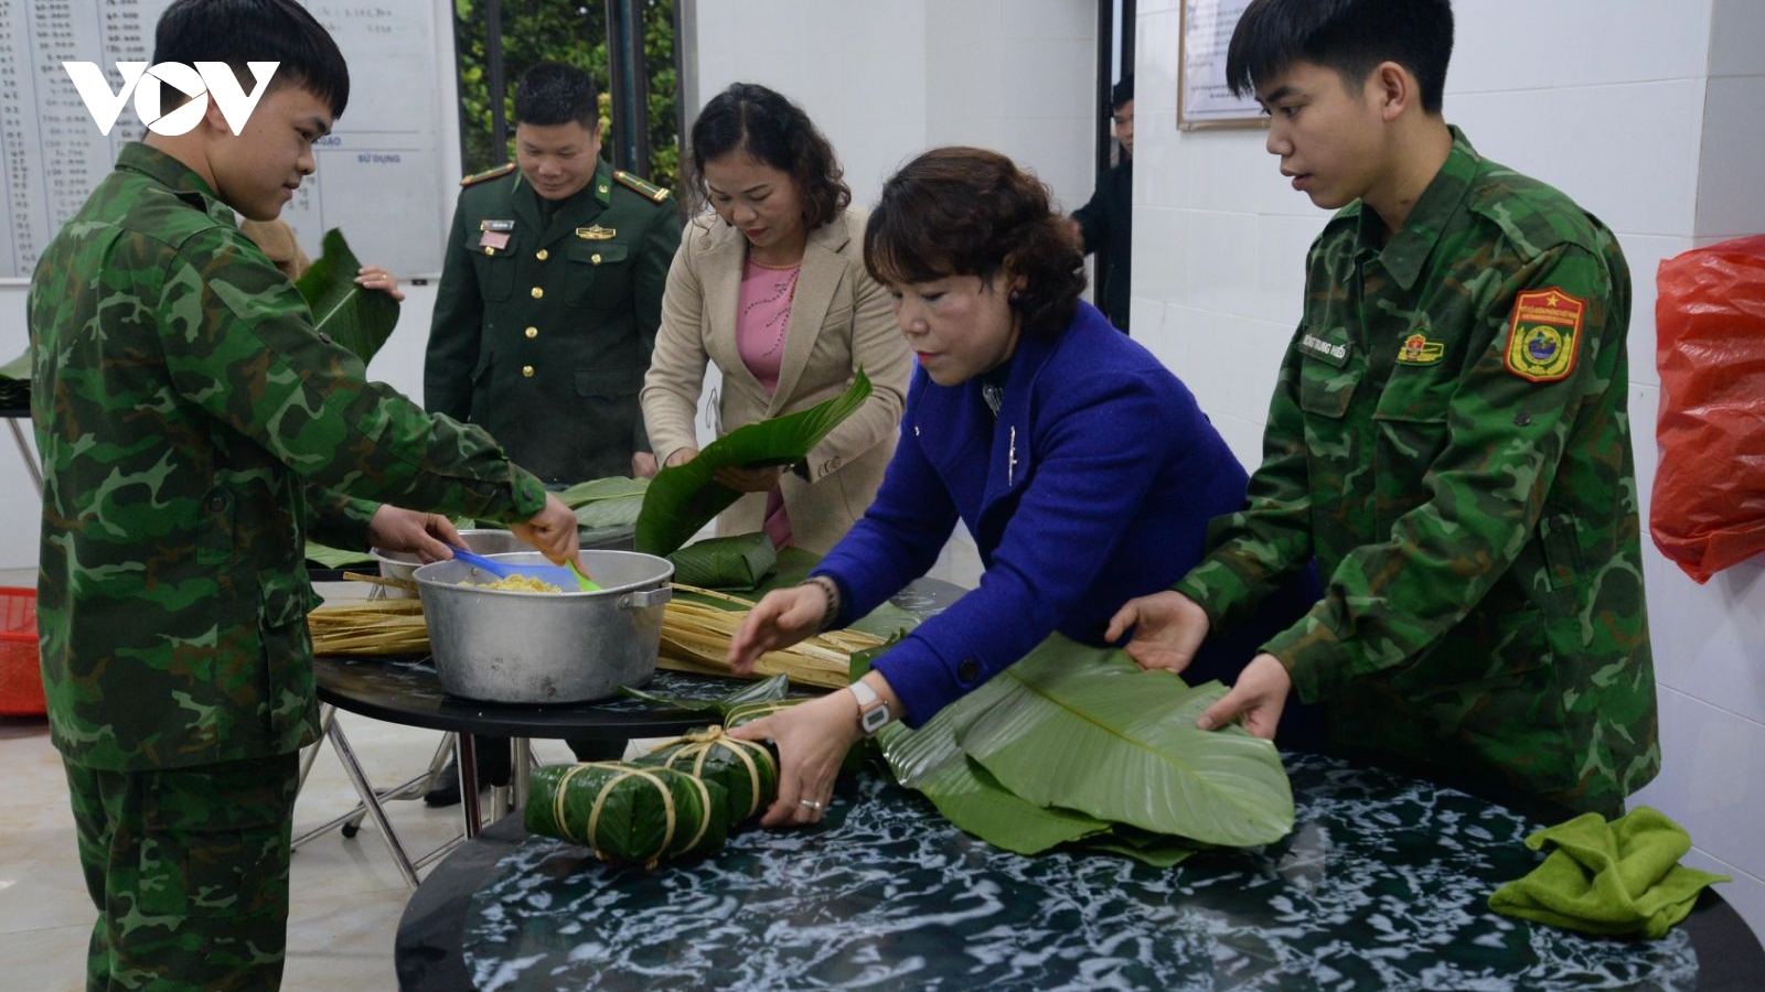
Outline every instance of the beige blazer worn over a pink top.
[[[717, 399], [717, 432], [807, 410], [851, 385], [863, 365], [870, 399], [808, 454], [808, 482], [785, 473], [791, 542], [826, 554], [863, 515], [895, 454], [913, 353], [895, 325], [888, 291], [865, 272], [865, 212], [847, 210], [815, 228], [803, 249], [803, 270], [785, 325], [778, 392], [766, 395], [736, 351], [736, 300], [747, 240], [715, 214], [702, 214], [681, 231], [667, 274], [662, 327], [644, 378], [641, 402], [658, 462], [697, 447], [694, 415], [708, 362], [724, 385]], [[717, 533], [761, 530], [766, 494], [750, 492], [717, 521]]]

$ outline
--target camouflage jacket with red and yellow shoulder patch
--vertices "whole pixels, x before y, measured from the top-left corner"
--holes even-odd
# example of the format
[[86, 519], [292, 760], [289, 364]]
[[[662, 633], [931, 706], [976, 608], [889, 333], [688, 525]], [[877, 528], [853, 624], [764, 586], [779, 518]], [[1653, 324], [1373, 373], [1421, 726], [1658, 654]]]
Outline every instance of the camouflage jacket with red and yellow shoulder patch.
[[1453, 136], [1384, 249], [1359, 203], [1311, 247], [1250, 507], [1177, 590], [1227, 616], [1315, 554], [1324, 598], [1264, 650], [1336, 740], [1613, 808], [1661, 759], [1629, 270]]

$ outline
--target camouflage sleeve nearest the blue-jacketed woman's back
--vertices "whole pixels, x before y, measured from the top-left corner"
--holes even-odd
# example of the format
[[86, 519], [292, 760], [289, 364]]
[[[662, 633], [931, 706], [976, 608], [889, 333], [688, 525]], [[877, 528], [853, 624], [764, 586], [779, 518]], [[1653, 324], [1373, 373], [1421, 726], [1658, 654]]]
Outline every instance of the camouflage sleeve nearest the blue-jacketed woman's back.
[[1262, 464], [1250, 477], [1244, 510], [1207, 526], [1209, 554], [1175, 590], [1207, 612], [1214, 630], [1232, 627], [1311, 560], [1311, 470], [1299, 411], [1297, 348], [1288, 348], [1269, 401]]

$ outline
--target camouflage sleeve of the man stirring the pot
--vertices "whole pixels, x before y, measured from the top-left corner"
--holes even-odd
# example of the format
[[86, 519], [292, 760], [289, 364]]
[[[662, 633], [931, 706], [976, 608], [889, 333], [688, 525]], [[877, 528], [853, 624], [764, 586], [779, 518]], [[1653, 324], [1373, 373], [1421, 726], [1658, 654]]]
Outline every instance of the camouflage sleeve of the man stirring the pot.
[[238, 231], [212, 228], [180, 247], [159, 312], [173, 388], [309, 485], [491, 519], [528, 519], [545, 501], [489, 434], [369, 383]]

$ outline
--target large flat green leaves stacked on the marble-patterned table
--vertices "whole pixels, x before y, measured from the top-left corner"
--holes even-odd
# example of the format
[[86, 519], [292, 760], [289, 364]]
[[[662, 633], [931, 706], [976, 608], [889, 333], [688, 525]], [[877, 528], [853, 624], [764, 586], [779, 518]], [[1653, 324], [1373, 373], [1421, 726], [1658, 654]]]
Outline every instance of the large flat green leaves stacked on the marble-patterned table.
[[[854, 657], [851, 678], [884, 650]], [[777, 680], [750, 687], [740, 706], [722, 706], [724, 725], [800, 703], [782, 692]], [[1209, 847], [1273, 844], [1294, 828], [1274, 745], [1236, 725], [1195, 727], [1221, 695], [1218, 681], [1190, 687], [1055, 634], [920, 729], [890, 724], [875, 743], [902, 785], [988, 844], [1168, 867]], [[845, 770], [858, 768], [851, 757]]]

